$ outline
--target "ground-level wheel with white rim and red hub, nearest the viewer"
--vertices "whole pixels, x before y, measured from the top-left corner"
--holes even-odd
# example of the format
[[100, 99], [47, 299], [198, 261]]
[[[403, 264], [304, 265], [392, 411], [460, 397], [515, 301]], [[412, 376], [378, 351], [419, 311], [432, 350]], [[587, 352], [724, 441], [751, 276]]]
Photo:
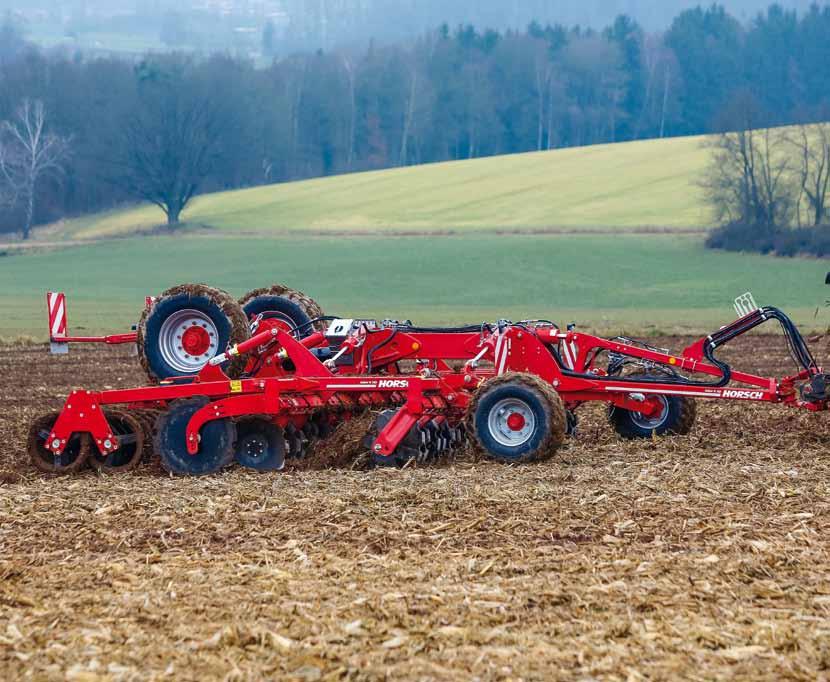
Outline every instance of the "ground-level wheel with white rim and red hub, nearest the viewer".
[[478, 389], [467, 415], [478, 445], [491, 458], [506, 463], [552, 456], [567, 430], [562, 398], [531, 374], [490, 379]]

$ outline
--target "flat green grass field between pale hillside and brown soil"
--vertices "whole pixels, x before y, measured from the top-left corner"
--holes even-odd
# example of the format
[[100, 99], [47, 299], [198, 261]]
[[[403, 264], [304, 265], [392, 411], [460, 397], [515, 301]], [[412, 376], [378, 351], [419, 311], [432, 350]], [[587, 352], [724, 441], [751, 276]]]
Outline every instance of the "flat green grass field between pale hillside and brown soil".
[[74, 331], [121, 331], [143, 297], [189, 281], [241, 295], [273, 282], [342, 316], [461, 323], [545, 317], [629, 333], [708, 331], [752, 290], [823, 328], [827, 264], [707, 251], [684, 235], [303, 238], [155, 237], [0, 259], [0, 336], [46, 334], [45, 291], [69, 296]]

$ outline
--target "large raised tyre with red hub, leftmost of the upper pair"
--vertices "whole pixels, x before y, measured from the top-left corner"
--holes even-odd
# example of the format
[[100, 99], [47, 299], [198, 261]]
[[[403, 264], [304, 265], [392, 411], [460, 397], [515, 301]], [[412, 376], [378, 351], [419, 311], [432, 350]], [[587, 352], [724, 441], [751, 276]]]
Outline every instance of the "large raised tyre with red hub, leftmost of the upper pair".
[[[138, 324], [138, 354], [151, 381], [197, 375], [214, 355], [250, 337], [248, 318], [227, 292], [205, 284], [165, 291]], [[238, 377], [244, 357], [222, 366]]]

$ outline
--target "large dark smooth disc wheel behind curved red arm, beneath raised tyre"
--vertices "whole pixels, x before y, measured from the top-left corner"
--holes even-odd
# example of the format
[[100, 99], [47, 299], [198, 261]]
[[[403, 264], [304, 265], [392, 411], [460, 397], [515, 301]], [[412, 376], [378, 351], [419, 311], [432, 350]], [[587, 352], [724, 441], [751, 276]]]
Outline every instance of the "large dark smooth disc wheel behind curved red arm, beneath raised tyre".
[[185, 441], [187, 424], [210, 401], [204, 397], [178, 400], [156, 425], [155, 447], [161, 465], [171, 474], [204, 476], [233, 462], [236, 426], [230, 419], [215, 419], [199, 433], [199, 452], [191, 455]]

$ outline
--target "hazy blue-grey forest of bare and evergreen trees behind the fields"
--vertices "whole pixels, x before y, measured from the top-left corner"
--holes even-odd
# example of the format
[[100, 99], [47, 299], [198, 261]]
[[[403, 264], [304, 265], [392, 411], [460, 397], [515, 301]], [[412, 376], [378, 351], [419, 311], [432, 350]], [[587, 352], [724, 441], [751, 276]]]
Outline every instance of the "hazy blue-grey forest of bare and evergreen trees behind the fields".
[[[405, 44], [257, 68], [227, 54], [43, 51], [7, 24], [0, 229], [136, 199], [175, 224], [201, 192], [715, 132], [745, 93], [765, 124], [820, 120], [830, 105], [827, 35], [830, 5], [801, 16], [772, 5], [748, 24], [712, 5], [680, 13], [662, 33], [625, 15], [601, 31], [445, 25]], [[33, 175], [21, 137], [38, 115], [52, 153]]]

